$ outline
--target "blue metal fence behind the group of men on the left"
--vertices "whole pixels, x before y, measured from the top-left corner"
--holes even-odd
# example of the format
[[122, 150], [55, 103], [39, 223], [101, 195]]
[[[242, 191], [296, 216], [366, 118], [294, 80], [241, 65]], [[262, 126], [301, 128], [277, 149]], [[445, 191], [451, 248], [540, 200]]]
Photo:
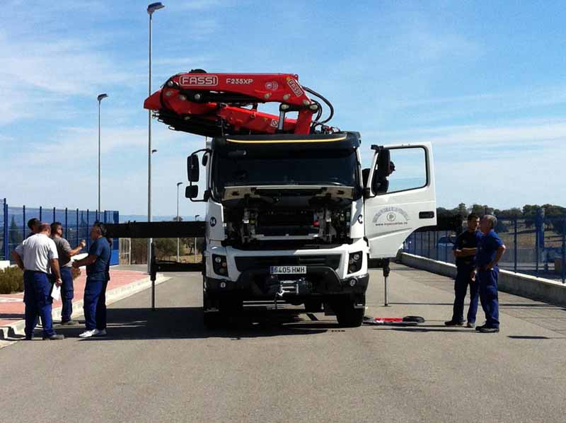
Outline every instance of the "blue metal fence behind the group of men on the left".
[[[117, 224], [120, 214], [106, 210], [100, 214], [96, 210], [60, 209], [57, 207], [10, 207], [6, 199], [0, 200], [2, 213], [0, 216], [0, 260], [11, 260], [11, 252], [25, 239], [30, 230], [28, 220], [40, 219], [47, 223], [59, 221], [63, 225], [63, 237], [71, 247], [79, 245], [81, 239], [86, 241], [84, 252], [91, 246], [90, 230], [96, 221]], [[110, 264], [118, 264], [118, 240], [112, 242], [112, 258]]]

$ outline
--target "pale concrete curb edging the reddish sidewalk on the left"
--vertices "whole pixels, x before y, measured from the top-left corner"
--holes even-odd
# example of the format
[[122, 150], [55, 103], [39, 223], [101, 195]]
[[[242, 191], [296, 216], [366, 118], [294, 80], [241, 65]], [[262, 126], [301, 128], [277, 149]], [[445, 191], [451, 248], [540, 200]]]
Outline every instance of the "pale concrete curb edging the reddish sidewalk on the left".
[[[171, 279], [170, 277], [164, 277], [163, 274], [157, 274], [155, 284], [162, 284], [163, 282]], [[110, 289], [106, 291], [106, 305], [109, 306], [116, 301], [120, 301], [129, 296], [137, 294], [138, 292], [144, 291], [151, 287], [151, 280], [149, 276], [144, 277], [144, 279], [139, 279], [127, 285], [118, 286], [115, 289]], [[73, 301], [73, 318], [83, 315], [83, 300]], [[59, 320], [61, 318], [61, 307], [53, 308], [51, 311], [53, 320]], [[9, 340], [9, 338], [23, 336], [25, 328], [25, 320], [17, 320], [8, 326], [0, 327], [0, 340]]]

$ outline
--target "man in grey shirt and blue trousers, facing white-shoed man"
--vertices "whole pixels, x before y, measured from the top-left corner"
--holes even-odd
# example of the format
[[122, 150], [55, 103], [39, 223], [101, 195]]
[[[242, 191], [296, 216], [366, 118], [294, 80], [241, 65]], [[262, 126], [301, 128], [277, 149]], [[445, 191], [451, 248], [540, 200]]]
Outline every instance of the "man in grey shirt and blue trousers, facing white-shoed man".
[[78, 325], [79, 322], [71, 320], [73, 314], [73, 271], [71, 266], [71, 257], [81, 252], [86, 247], [86, 242], [81, 240], [79, 246], [71, 250], [69, 241], [63, 238], [63, 226], [60, 222], [53, 222], [51, 224], [51, 236], [57, 246], [57, 254], [59, 255], [59, 270], [61, 272], [61, 302], [63, 308], [61, 311], [61, 324], [62, 325]]

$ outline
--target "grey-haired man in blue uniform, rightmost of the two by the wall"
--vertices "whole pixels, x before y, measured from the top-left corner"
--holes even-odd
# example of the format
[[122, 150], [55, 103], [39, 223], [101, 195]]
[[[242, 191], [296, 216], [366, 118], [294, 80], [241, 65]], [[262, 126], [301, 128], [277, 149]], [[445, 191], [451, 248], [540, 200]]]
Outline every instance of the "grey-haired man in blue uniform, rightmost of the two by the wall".
[[[478, 253], [475, 254], [475, 279], [480, 283], [480, 301], [485, 312], [485, 325], [475, 330], [483, 333], [499, 332], [499, 301], [497, 299], [497, 278], [499, 267], [497, 263], [505, 253], [505, 245], [495, 233], [497, 218], [490, 214], [483, 216], [480, 231], [483, 237], [478, 243]], [[474, 276], [474, 274], [472, 274]]]

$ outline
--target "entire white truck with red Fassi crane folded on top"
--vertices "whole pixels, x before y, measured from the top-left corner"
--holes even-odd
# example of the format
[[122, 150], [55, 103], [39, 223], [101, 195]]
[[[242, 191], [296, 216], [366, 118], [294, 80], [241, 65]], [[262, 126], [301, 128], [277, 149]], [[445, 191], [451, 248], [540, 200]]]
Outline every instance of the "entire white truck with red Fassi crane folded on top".
[[[279, 115], [258, 111], [272, 102]], [[370, 145], [362, 169], [360, 134], [329, 127], [332, 105], [294, 74], [195, 69], [144, 107], [207, 137], [187, 158], [185, 192], [206, 204], [206, 325], [267, 300], [324, 305], [340, 325], [359, 326], [369, 260], [395, 257], [413, 231], [437, 223], [431, 145]]]

